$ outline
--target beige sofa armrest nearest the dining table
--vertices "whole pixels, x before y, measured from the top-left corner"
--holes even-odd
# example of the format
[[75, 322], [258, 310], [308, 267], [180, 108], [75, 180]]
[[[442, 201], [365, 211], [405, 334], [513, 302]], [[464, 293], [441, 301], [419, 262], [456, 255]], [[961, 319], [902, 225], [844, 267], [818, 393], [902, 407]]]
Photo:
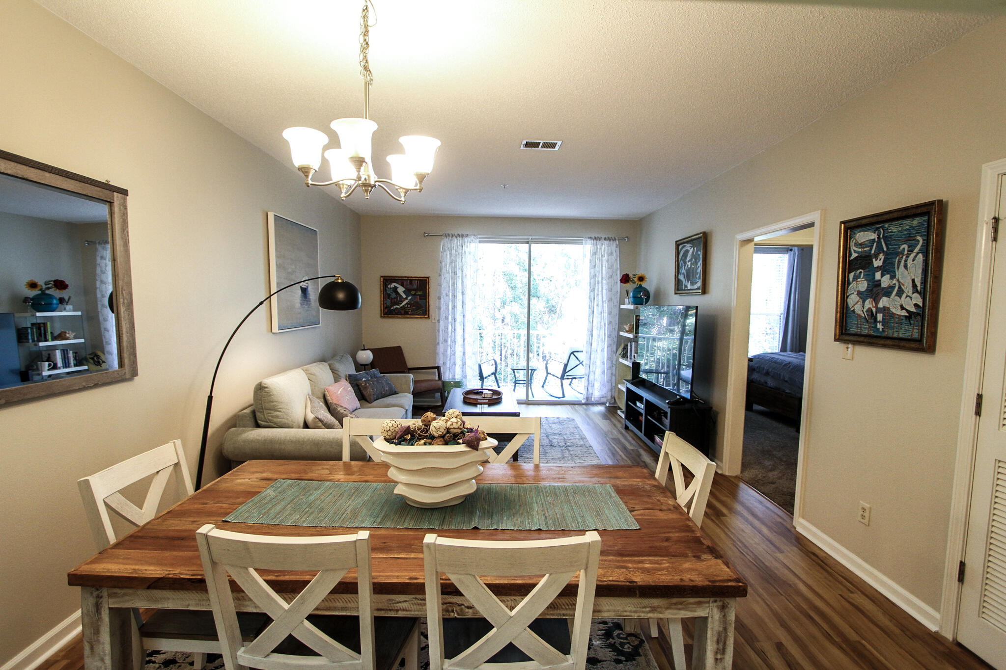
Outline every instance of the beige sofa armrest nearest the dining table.
[[[234, 462], [253, 460], [340, 461], [342, 429], [231, 428], [223, 437], [223, 455]], [[354, 441], [350, 460], [367, 459]]]

